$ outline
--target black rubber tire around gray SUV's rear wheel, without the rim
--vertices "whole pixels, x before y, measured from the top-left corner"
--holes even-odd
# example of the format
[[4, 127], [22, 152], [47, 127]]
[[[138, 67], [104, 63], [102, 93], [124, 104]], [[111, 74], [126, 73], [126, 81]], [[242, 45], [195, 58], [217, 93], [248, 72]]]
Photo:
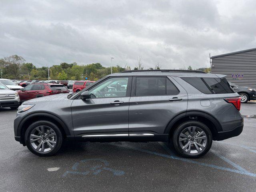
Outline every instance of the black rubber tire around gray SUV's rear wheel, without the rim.
[[[201, 130], [203, 130], [206, 135], [206, 138], [207, 138], [206, 146], [204, 147], [204, 149], [202, 149], [202, 151], [194, 153], [194, 154], [185, 152], [182, 149], [182, 147], [180, 146], [180, 141], [179, 141], [181, 132], [190, 126], [192, 126], [192, 127], [195, 126], [197, 128], [200, 128]], [[202, 122], [199, 122], [199, 121], [183, 122], [174, 130], [173, 135], [172, 135], [172, 144], [173, 144], [176, 152], [179, 155], [186, 157], [186, 158], [198, 158], [198, 157], [203, 156], [210, 150], [210, 148], [212, 146], [212, 133], [211, 133], [210, 129]], [[195, 146], [194, 144], [192, 144], [192, 145]]]

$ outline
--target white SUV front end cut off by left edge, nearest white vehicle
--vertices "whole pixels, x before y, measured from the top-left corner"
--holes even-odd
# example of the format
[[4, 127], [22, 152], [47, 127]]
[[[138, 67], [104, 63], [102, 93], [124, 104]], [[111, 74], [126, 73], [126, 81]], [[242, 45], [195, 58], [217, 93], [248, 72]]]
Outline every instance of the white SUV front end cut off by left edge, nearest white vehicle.
[[18, 92], [10, 90], [0, 82], [0, 107], [10, 107], [16, 109], [20, 106], [20, 97]]

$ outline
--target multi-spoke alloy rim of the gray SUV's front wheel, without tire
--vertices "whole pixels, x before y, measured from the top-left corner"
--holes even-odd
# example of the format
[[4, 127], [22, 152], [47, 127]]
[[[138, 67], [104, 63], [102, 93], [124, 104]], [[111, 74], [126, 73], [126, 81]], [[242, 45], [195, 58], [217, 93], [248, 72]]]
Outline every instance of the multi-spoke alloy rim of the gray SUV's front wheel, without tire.
[[55, 131], [48, 126], [38, 126], [30, 134], [30, 144], [39, 152], [49, 152], [57, 144]]

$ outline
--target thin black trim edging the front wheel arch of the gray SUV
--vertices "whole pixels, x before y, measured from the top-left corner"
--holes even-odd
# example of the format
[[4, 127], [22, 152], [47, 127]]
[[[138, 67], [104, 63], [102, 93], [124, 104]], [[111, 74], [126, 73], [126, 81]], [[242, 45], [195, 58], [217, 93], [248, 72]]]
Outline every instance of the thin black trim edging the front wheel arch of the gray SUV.
[[66, 134], [66, 136], [70, 136], [70, 130], [68, 129], [68, 126], [64, 123], [64, 121], [62, 121], [62, 119], [60, 118], [60, 116], [51, 113], [51, 112], [32, 112], [27, 114], [26, 116], [24, 116], [24, 118], [22, 119], [22, 121], [20, 122], [20, 124], [18, 125], [18, 129], [17, 129], [17, 133], [19, 134], [18, 136], [21, 135], [21, 128], [23, 126], [23, 124], [30, 118], [36, 117], [36, 116], [46, 116], [49, 118], [52, 118], [54, 120], [56, 120], [64, 129], [64, 132]]

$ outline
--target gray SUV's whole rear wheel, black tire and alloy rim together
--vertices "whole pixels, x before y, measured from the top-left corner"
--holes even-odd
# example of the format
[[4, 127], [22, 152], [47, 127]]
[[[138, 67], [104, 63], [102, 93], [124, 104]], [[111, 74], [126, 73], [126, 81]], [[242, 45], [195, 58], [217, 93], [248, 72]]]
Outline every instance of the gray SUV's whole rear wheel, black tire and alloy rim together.
[[181, 156], [198, 158], [210, 150], [212, 146], [212, 133], [201, 122], [184, 122], [174, 130], [172, 144], [176, 152]]

